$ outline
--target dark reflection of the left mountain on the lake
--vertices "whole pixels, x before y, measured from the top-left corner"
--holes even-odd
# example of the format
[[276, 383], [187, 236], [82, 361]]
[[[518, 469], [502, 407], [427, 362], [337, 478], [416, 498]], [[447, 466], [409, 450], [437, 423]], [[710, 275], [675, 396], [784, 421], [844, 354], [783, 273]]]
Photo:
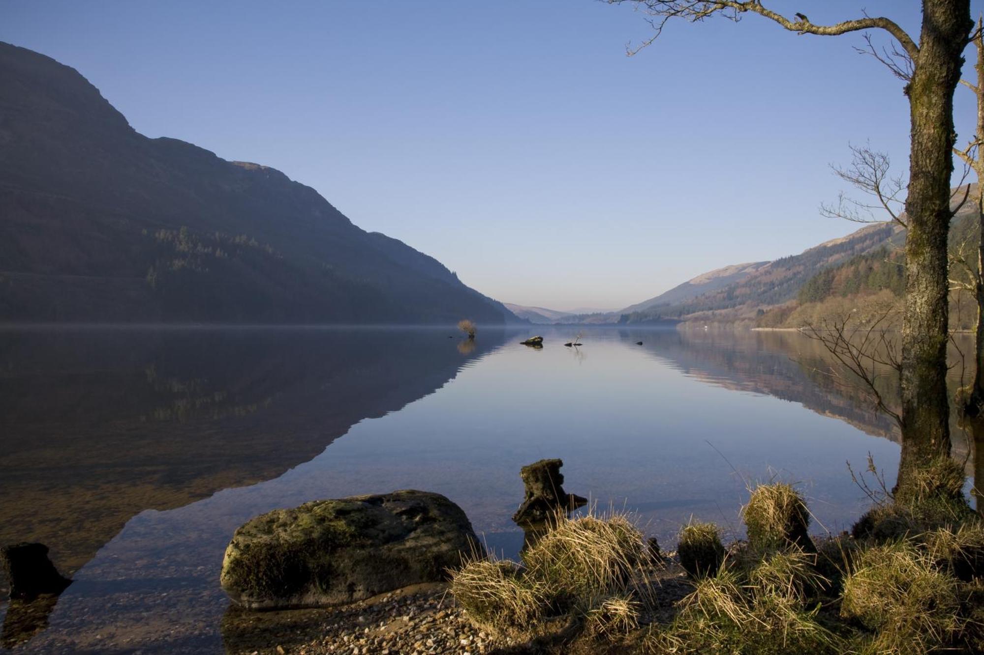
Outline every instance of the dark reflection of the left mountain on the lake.
[[[442, 387], [504, 338], [485, 329], [462, 347], [452, 334], [5, 329], [0, 545], [45, 543], [71, 574], [139, 512], [276, 478], [353, 424]], [[6, 586], [0, 577], [0, 598]], [[56, 600], [9, 605], [4, 645]]]

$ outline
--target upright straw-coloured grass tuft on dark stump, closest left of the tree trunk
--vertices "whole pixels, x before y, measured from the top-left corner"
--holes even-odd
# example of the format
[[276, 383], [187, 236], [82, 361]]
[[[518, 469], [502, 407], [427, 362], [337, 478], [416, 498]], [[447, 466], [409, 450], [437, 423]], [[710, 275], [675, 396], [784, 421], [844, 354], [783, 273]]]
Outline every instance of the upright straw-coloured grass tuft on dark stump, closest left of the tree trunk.
[[749, 545], [757, 551], [765, 553], [790, 546], [815, 550], [808, 531], [810, 510], [791, 485], [759, 485], [742, 508], [742, 517], [748, 528]]

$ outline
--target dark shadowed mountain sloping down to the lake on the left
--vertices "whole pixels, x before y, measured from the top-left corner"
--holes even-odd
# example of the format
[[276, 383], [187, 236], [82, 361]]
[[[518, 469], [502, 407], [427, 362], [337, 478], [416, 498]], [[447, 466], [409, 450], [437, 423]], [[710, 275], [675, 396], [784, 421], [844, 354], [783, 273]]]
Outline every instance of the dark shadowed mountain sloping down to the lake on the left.
[[255, 163], [138, 134], [77, 71], [0, 43], [0, 322], [516, 318]]

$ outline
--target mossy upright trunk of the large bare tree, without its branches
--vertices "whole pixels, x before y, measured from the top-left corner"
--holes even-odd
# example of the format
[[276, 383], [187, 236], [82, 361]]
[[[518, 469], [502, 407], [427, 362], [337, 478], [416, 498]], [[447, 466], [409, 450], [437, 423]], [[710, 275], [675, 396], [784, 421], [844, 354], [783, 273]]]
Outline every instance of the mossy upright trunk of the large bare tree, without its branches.
[[950, 454], [947, 397], [947, 235], [953, 173], [953, 90], [973, 28], [969, 0], [923, 0], [909, 96], [911, 154], [905, 211], [902, 319], [902, 457], [896, 489], [914, 470]]

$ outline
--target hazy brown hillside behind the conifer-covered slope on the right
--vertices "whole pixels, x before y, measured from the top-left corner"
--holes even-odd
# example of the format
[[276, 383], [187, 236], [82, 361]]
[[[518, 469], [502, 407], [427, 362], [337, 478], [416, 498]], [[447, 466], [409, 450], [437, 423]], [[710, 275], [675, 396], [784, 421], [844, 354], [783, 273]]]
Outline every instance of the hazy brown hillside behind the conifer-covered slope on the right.
[[879, 249], [897, 249], [903, 239], [904, 230], [894, 223], [865, 225], [799, 255], [712, 270], [661, 296], [627, 307], [609, 320], [630, 324], [754, 320], [769, 308], [795, 299], [800, 287], [821, 270]]

